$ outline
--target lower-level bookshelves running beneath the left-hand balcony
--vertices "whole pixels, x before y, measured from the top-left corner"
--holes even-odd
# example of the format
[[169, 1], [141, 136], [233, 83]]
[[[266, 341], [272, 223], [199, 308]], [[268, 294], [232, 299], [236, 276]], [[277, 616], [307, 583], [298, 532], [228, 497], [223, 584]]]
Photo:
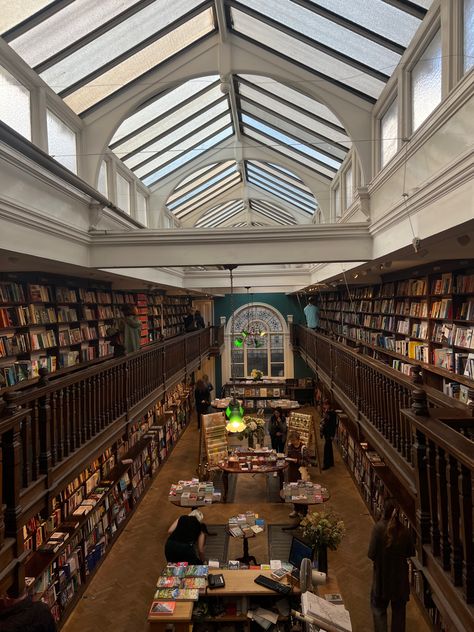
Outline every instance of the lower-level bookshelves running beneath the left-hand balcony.
[[23, 526], [25, 583], [63, 623], [189, 419], [179, 384]]

